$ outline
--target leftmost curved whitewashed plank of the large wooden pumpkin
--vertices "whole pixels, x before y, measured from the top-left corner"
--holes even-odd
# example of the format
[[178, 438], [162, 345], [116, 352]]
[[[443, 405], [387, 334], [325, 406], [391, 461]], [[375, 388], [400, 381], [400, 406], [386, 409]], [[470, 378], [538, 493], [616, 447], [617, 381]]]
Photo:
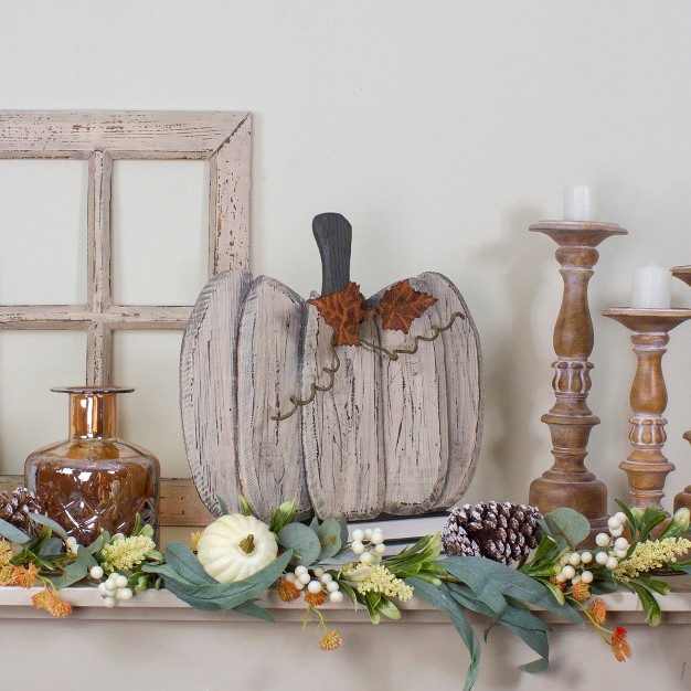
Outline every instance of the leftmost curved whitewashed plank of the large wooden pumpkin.
[[180, 405], [188, 461], [200, 498], [214, 513], [221, 497], [240, 511], [237, 353], [241, 306], [252, 276], [224, 272], [202, 290], [182, 338]]

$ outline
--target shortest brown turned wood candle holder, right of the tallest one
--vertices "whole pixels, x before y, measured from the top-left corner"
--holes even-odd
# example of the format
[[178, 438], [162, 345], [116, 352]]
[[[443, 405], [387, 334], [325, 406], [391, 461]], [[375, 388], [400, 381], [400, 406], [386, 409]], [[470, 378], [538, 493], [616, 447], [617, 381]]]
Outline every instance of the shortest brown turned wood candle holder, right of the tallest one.
[[667, 440], [662, 417], [667, 407], [667, 387], [662, 375], [662, 355], [669, 342], [668, 332], [691, 319], [691, 309], [632, 309], [615, 307], [603, 312], [634, 333], [631, 342], [638, 358], [631, 385], [629, 439], [634, 450], [619, 464], [628, 476], [630, 506], [645, 509], [650, 504], [661, 508], [665, 480], [674, 469], [662, 454]]

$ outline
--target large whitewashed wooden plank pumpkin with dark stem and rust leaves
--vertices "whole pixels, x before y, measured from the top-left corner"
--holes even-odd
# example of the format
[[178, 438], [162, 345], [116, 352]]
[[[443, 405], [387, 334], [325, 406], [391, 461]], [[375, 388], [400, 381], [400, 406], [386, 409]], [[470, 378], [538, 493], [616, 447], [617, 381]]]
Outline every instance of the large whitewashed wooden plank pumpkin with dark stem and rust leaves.
[[468, 308], [435, 273], [364, 300], [350, 283], [348, 221], [321, 214], [313, 232], [321, 296], [306, 301], [273, 278], [232, 270], [196, 301], [180, 378], [200, 497], [217, 514], [219, 498], [237, 511], [243, 495], [266, 519], [294, 497], [304, 518], [446, 509], [470, 482], [481, 437]]

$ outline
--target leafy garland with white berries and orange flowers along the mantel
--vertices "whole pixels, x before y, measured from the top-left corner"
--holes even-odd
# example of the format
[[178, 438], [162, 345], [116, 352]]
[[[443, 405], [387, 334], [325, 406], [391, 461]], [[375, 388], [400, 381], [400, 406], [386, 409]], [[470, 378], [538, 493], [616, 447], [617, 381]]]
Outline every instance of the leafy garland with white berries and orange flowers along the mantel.
[[[538, 655], [522, 666], [527, 672], [549, 666], [550, 629], [531, 607], [549, 610], [574, 626], [591, 625], [612, 647], [614, 657], [625, 661], [631, 656], [627, 631], [607, 628], [607, 613], [598, 595], [617, 589], [635, 593], [647, 621], [657, 626], [661, 609], [656, 596], [666, 595], [669, 586], [656, 573], [691, 573], [691, 560], [681, 560], [691, 550], [688, 509], [679, 510], [661, 530], [668, 520], [661, 509], [630, 509], [617, 502], [620, 511], [609, 519], [608, 532], [596, 536], [596, 549], [577, 546], [588, 538], [587, 519], [572, 509], [557, 509], [535, 519], [536, 549], [528, 554], [521, 551], [518, 562], [507, 564], [502, 562], [508, 561], [510, 550], [501, 553], [499, 561], [492, 549], [489, 556], [446, 555], [440, 533], [387, 555], [381, 529], [355, 529], [349, 535], [342, 518], [296, 522], [296, 501], [276, 509], [269, 524], [263, 527], [267, 538], [245, 535], [237, 527], [243, 524], [242, 517], [252, 512], [244, 500], [242, 503], [243, 514], [235, 514], [233, 521], [219, 519], [240, 530], [227, 545], [219, 542], [215, 521], [204, 533], [192, 536], [191, 546], [171, 542], [163, 553], [153, 543], [151, 528], [139, 520], [131, 534], [103, 532], [89, 545], [77, 544], [54, 520], [40, 513], [29, 512], [28, 530], [0, 520], [0, 585], [41, 584], [43, 588], [32, 602], [56, 617], [72, 610], [60, 598], [60, 589], [86, 585], [98, 592], [107, 607], [142, 591], [164, 587], [198, 609], [233, 609], [267, 621], [274, 620], [273, 615], [256, 600], [273, 589], [285, 602], [302, 598], [302, 626], [313, 623], [321, 629], [319, 647], [323, 650], [336, 650], [344, 642], [338, 629], [327, 624], [329, 603], [348, 598], [355, 609], [366, 612], [372, 624], [379, 624], [381, 617], [402, 618], [405, 608], [400, 604], [415, 596], [446, 614], [458, 631], [470, 653], [465, 689], [471, 689], [479, 671], [480, 639], [468, 620], [469, 612], [486, 620], [486, 637], [496, 625], [503, 626]], [[227, 518], [227, 510], [220, 504]], [[519, 511], [515, 504], [504, 507], [511, 507], [506, 515]], [[490, 509], [495, 508], [497, 515], [502, 515], [500, 506], [490, 502]], [[467, 519], [476, 514], [487, 520], [487, 504], [466, 504], [460, 510]], [[456, 540], [458, 515], [450, 531]], [[247, 524], [257, 521], [252, 518]], [[470, 531], [472, 525], [470, 521]], [[275, 540], [277, 545], [276, 557], [269, 556], [268, 563], [255, 554], [266, 546], [259, 544], [263, 539]], [[221, 577], [219, 564], [215, 571], [211, 567], [220, 559], [225, 560], [223, 566], [230, 566], [223, 570], [226, 582], [210, 575]], [[238, 564], [243, 568], [235, 570], [233, 560], [243, 562]], [[248, 573], [247, 567], [251, 575], [232, 580], [235, 571]]]

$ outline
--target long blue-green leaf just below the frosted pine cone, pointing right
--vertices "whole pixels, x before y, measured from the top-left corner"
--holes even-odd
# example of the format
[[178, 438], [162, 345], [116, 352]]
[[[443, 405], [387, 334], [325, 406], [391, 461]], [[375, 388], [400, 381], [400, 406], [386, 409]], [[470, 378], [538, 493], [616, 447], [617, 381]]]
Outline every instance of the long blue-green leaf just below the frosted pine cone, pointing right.
[[491, 609], [501, 616], [506, 609], [503, 594], [549, 609], [560, 617], [585, 627], [578, 613], [568, 605], [555, 602], [552, 592], [540, 581], [520, 571], [504, 566], [482, 556], [449, 556], [439, 562], [444, 568], [459, 581], [467, 583], [472, 592]]

